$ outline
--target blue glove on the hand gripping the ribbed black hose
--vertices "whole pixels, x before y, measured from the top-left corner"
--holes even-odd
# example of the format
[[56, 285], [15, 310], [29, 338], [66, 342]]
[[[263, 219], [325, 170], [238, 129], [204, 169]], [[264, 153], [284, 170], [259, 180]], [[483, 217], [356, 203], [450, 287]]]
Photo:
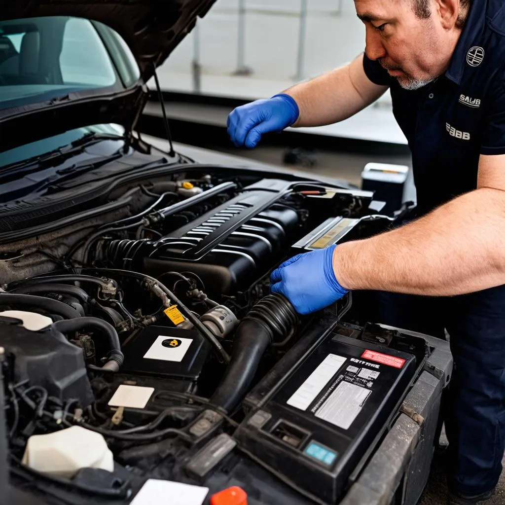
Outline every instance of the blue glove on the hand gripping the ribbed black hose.
[[299, 254], [272, 272], [274, 293], [283, 294], [298, 314], [324, 309], [348, 293], [333, 272], [336, 245]]

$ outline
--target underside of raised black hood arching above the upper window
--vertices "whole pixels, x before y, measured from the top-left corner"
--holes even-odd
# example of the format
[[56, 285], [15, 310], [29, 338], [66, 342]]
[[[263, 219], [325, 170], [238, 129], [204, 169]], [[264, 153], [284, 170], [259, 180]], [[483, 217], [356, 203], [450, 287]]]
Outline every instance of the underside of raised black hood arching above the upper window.
[[[0, 0], [0, 20], [75, 16], [116, 30], [147, 82], [216, 0]], [[154, 65], [153, 65], [154, 64]]]

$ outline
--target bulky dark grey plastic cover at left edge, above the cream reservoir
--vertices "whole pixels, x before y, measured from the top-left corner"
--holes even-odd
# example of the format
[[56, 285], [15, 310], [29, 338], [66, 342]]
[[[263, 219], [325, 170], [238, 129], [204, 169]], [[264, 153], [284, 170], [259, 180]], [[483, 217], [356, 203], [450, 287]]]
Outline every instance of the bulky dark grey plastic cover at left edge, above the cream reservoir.
[[6, 349], [9, 380], [27, 380], [61, 401], [77, 398], [81, 407], [94, 401], [82, 349], [52, 327], [30, 331], [21, 321], [0, 318], [0, 346]]

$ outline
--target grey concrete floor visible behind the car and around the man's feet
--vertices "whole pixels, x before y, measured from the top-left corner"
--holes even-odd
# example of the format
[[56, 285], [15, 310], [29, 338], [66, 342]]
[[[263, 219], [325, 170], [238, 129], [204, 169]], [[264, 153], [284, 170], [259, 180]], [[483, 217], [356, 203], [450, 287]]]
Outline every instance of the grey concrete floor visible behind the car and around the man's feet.
[[[283, 150], [276, 147], [257, 147], [256, 149], [251, 150], [236, 149], [234, 147], [218, 147], [217, 149], [229, 154], [244, 156], [264, 163], [283, 166]], [[361, 185], [361, 171], [366, 163], [396, 163], [400, 165], [408, 165], [409, 167], [411, 166], [410, 157], [406, 156], [355, 155], [347, 153], [337, 154], [324, 151], [316, 153], [315, 156], [317, 163], [311, 170], [321, 175], [346, 179], [357, 186]], [[503, 458], [503, 465], [505, 466], [505, 457]], [[443, 466], [441, 462], [435, 461], [428, 485], [418, 505], [446, 505], [446, 493], [447, 483]], [[505, 471], [501, 475], [496, 495], [486, 502], [485, 505], [504, 504]]]

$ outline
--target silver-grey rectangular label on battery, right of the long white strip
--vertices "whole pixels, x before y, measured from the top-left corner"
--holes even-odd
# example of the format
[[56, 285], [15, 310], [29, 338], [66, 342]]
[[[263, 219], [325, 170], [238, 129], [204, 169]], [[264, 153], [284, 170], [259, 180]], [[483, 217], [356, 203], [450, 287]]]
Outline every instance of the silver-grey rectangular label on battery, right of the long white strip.
[[341, 382], [323, 403], [315, 416], [339, 428], [348, 430], [363, 409], [372, 391], [364, 387]]

